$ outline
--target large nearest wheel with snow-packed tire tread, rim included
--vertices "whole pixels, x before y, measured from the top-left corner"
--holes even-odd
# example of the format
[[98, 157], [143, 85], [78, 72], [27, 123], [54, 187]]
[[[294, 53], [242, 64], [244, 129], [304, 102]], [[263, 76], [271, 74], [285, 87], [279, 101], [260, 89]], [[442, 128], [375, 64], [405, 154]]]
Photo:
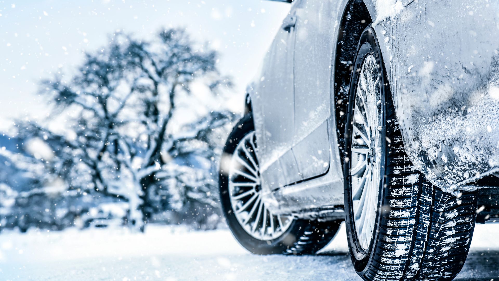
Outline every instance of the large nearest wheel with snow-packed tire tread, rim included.
[[345, 130], [345, 213], [364, 280], [451, 280], [473, 234], [477, 196], [443, 192], [409, 160], [374, 30], [360, 38]]

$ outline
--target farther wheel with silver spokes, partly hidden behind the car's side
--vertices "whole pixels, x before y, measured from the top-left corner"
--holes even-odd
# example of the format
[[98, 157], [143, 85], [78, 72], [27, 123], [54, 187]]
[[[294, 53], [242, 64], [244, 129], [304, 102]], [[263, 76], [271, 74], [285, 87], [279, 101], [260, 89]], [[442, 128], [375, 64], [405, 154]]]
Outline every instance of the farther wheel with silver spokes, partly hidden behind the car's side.
[[250, 114], [229, 135], [221, 161], [220, 196], [232, 233], [257, 254], [305, 254], [324, 247], [339, 228], [337, 221], [311, 221], [270, 212], [261, 200], [257, 141]]

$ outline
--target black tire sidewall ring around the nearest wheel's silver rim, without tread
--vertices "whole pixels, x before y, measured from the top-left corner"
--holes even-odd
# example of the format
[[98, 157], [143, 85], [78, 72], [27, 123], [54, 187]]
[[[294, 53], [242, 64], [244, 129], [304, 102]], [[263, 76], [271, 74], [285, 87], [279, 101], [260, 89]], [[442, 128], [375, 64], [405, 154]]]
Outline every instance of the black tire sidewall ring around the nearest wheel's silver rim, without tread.
[[[348, 111], [347, 111], [347, 122], [345, 126], [345, 158], [350, 157], [351, 155], [351, 137], [352, 137], [352, 118], [353, 118], [353, 108], [355, 104], [355, 96], [357, 89], [357, 81], [359, 78], [359, 73], [357, 69], [360, 69], [364, 59], [367, 55], [372, 54], [375, 56], [377, 64], [379, 66], [380, 73], [380, 82], [381, 82], [381, 98], [382, 98], [382, 111], [383, 111], [383, 119], [382, 122], [386, 126], [386, 102], [389, 98], [388, 94], [390, 93], [387, 83], [385, 82], [385, 69], [383, 67], [383, 60], [381, 55], [381, 50], [379, 48], [379, 44], [376, 38], [376, 34], [374, 29], [371, 26], [368, 26], [363, 32], [359, 40], [359, 44], [357, 46], [357, 54], [355, 56], [354, 68], [350, 77], [350, 93], [349, 93], [349, 103], [348, 103]], [[386, 128], [383, 130], [382, 139], [386, 137]], [[351, 177], [350, 177], [350, 168], [351, 161], [345, 160], [343, 165], [343, 175], [344, 175], [344, 199], [345, 199], [345, 226], [347, 230], [348, 244], [350, 248], [351, 258], [355, 267], [355, 270], [362, 276], [370, 267], [372, 263], [372, 259], [374, 256], [374, 252], [376, 249], [376, 244], [379, 239], [380, 233], [380, 220], [382, 217], [381, 206], [384, 201], [384, 193], [386, 189], [386, 163], [387, 163], [387, 151], [388, 147], [386, 147], [388, 143], [385, 143], [385, 153], [382, 154], [381, 158], [381, 170], [384, 175], [380, 182], [379, 196], [378, 196], [378, 212], [376, 214], [376, 220], [374, 223], [373, 229], [373, 237], [369, 244], [367, 250], [363, 250], [360, 247], [358, 242], [356, 230], [355, 230], [355, 222], [353, 219], [353, 208], [352, 208], [352, 192], [351, 192]]]

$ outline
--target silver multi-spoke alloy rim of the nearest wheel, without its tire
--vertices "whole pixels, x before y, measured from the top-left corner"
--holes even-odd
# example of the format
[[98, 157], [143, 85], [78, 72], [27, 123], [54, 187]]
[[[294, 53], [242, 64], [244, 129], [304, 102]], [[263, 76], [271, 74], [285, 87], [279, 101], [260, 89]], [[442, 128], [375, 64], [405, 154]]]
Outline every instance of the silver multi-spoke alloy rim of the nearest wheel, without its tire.
[[367, 250], [378, 214], [383, 176], [385, 130], [379, 67], [374, 55], [364, 58], [357, 83], [351, 138], [351, 188], [355, 231]]

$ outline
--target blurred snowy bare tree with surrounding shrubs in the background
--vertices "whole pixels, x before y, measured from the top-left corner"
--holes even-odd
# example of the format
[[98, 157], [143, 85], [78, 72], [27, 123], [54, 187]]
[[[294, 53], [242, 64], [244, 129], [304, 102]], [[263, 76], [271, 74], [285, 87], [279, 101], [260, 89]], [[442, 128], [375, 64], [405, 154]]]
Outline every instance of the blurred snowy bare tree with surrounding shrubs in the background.
[[218, 161], [238, 116], [220, 109], [219, 54], [178, 28], [108, 41], [40, 82], [46, 119], [0, 137], [0, 230], [221, 222]]

